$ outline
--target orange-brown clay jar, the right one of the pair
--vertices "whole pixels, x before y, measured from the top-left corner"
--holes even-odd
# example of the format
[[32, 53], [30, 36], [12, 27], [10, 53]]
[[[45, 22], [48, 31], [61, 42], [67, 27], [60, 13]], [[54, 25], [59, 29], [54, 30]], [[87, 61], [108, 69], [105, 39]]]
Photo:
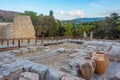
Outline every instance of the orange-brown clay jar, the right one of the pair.
[[104, 74], [109, 65], [109, 59], [107, 55], [104, 52], [97, 51], [93, 56], [96, 63], [95, 73], [99, 75]]

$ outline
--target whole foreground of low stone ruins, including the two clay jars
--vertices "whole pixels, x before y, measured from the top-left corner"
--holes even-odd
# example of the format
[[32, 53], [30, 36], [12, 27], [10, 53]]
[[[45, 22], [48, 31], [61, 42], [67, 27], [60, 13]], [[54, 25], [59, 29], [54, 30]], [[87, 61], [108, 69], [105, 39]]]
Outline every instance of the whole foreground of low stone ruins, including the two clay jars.
[[63, 39], [44, 43], [49, 46], [37, 43], [0, 52], [0, 80], [120, 80], [119, 41]]

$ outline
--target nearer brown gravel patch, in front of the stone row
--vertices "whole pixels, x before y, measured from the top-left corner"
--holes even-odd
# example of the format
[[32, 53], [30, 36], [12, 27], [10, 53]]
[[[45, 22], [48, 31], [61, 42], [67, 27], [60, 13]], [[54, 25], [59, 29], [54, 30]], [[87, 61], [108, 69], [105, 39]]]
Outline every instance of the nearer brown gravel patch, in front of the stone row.
[[34, 60], [33, 62], [41, 63], [51, 68], [59, 68], [68, 62], [71, 58], [68, 56], [67, 53], [61, 53], [52, 57], [43, 58], [39, 60]]

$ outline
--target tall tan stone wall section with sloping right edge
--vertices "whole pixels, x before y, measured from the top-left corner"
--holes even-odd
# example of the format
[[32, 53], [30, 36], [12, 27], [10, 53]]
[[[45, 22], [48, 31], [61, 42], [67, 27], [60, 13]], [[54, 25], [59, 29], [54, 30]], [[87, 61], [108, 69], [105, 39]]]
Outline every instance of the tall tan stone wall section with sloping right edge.
[[35, 30], [29, 16], [16, 16], [13, 22], [15, 38], [34, 38]]

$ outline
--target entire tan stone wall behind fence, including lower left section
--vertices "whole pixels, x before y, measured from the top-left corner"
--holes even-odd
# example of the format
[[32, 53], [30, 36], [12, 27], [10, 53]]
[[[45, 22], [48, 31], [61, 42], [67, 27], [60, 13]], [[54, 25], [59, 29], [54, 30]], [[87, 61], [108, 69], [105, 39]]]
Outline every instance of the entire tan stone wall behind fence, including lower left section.
[[30, 17], [16, 15], [13, 23], [0, 23], [0, 38], [35, 38]]

